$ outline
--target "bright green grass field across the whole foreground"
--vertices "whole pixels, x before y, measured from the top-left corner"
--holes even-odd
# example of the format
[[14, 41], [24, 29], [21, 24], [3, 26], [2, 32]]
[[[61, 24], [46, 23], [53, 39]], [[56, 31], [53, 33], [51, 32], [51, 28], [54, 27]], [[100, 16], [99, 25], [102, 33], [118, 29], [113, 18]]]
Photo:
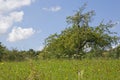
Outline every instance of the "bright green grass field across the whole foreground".
[[120, 80], [120, 60], [1, 62], [0, 80]]

